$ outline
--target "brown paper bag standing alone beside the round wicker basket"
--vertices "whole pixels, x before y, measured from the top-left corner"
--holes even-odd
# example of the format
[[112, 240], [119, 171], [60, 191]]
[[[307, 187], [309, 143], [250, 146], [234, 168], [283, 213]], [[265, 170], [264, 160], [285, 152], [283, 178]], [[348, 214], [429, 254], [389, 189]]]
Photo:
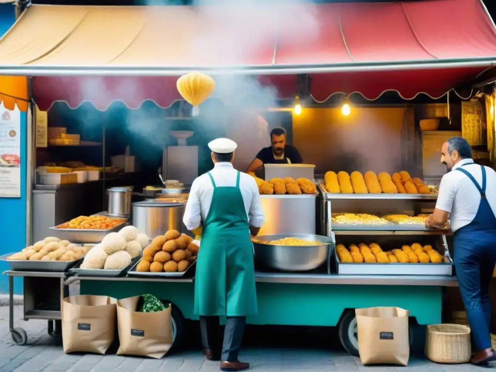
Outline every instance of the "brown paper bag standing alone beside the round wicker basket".
[[360, 360], [368, 364], [408, 365], [408, 310], [356, 309]]

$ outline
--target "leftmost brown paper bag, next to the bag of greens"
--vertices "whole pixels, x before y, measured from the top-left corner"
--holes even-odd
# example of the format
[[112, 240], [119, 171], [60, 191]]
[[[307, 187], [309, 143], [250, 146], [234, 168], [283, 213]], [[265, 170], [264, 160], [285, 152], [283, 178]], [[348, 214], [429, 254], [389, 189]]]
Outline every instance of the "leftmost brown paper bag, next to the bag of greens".
[[62, 301], [64, 353], [105, 354], [116, 333], [116, 299], [70, 296]]

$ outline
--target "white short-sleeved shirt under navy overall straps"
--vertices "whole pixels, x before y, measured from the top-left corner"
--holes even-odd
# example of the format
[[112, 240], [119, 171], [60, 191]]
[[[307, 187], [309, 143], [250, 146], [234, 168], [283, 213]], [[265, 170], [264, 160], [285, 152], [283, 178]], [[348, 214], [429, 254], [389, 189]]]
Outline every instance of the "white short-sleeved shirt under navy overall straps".
[[[439, 185], [439, 195], [435, 207], [450, 212], [449, 219], [453, 232], [471, 223], [479, 209], [481, 193], [467, 175], [456, 170], [464, 164], [473, 162], [472, 159], [463, 159], [456, 163], [451, 172], [442, 176]], [[486, 169], [486, 198], [496, 215], [496, 172], [492, 168], [484, 168]], [[466, 165], [462, 169], [470, 173], [482, 187], [480, 165]]]

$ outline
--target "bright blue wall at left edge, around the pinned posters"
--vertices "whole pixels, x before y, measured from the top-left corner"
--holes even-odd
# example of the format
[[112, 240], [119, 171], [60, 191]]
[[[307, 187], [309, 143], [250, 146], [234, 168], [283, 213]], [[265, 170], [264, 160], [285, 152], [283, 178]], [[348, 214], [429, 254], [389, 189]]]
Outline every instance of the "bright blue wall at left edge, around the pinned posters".
[[[14, 21], [14, 6], [12, 4], [0, 4], [0, 35], [3, 35]], [[4, 232], [0, 245], [0, 255], [19, 251], [26, 246], [26, 123], [26, 114], [21, 113], [21, 197], [0, 198], [0, 226]], [[8, 264], [0, 262], [1, 272], [8, 268]], [[15, 293], [22, 293], [21, 278], [15, 278], [14, 291]], [[0, 293], [8, 293], [6, 275], [0, 275]]]

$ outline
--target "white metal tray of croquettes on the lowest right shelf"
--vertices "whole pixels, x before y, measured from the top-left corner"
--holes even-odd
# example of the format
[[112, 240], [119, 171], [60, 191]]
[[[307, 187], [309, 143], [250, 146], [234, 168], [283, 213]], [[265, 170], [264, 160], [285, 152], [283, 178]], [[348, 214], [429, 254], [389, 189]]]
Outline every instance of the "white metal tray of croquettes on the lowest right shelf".
[[336, 270], [343, 275], [452, 275], [453, 261], [444, 263], [343, 263], [337, 254]]

